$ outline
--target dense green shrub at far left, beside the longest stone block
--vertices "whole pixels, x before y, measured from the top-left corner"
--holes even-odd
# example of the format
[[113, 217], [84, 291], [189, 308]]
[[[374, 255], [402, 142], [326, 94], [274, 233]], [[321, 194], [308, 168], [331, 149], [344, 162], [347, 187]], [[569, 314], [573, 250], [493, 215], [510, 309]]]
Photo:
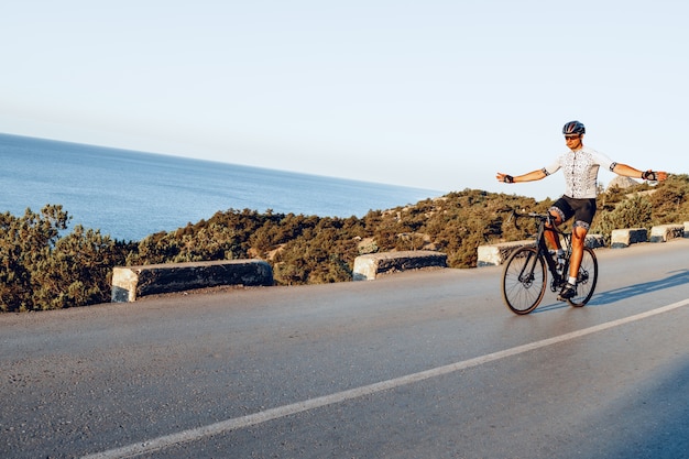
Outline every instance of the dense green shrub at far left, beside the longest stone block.
[[45, 206], [23, 217], [0, 219], [0, 309], [55, 309], [107, 302], [112, 266], [124, 261], [125, 244], [77, 226], [59, 237], [72, 217]]

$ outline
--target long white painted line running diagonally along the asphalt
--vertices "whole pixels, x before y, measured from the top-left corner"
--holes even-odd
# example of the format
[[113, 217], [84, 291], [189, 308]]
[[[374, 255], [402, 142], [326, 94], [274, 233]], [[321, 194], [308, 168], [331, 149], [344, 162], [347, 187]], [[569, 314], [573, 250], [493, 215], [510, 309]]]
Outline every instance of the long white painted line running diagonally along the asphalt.
[[350, 389], [348, 391], [338, 392], [331, 395], [324, 395], [307, 400], [304, 402], [297, 402], [289, 405], [278, 406], [276, 408], [266, 409], [263, 412], [250, 414], [247, 416], [236, 417], [233, 419], [227, 419], [219, 423], [210, 424], [208, 426], [183, 430], [177, 434], [165, 435], [163, 437], [153, 438], [147, 441], [138, 442], [121, 448], [110, 449], [108, 451], [98, 452], [89, 456], [85, 456], [84, 459], [121, 459], [131, 458], [139, 455], [143, 455], [151, 451], [156, 451], [163, 448], [167, 448], [173, 445], [199, 440], [212, 435], [222, 434], [229, 430], [236, 430], [256, 424], [262, 424], [272, 419], [289, 416], [297, 413], [303, 413], [309, 409], [319, 408], [327, 405], [333, 405], [336, 403], [344, 402], [352, 398], [371, 395], [378, 392], [386, 391], [390, 389], [400, 387], [402, 385], [412, 384], [415, 382], [428, 380], [430, 378], [440, 376], [442, 374], [453, 373], [456, 371], [466, 370], [472, 367], [478, 367], [484, 363], [493, 362], [495, 360], [504, 359], [506, 357], [517, 356], [524, 352], [528, 352], [535, 349], [545, 348], [547, 346], [557, 345], [564, 341], [569, 341], [576, 338], [580, 338], [587, 335], [595, 334], [598, 331], [608, 330], [613, 327], [619, 327], [625, 324], [630, 324], [636, 320], [642, 320], [648, 317], [664, 314], [674, 309], [678, 309], [682, 306], [689, 305], [689, 298], [667, 305], [657, 309], [641, 313], [634, 316], [625, 317], [617, 320], [612, 320], [605, 324], [600, 324], [593, 327], [584, 328], [569, 334], [560, 335], [557, 337], [543, 339], [540, 341], [531, 342], [528, 345], [517, 346], [515, 348], [505, 349], [502, 351], [480, 356], [473, 359], [463, 360], [461, 362], [450, 363], [444, 367], [438, 367], [431, 370], [422, 371], [418, 373], [407, 374], [405, 376], [395, 378], [387, 381], [381, 381], [379, 383], [363, 385], [361, 387]]

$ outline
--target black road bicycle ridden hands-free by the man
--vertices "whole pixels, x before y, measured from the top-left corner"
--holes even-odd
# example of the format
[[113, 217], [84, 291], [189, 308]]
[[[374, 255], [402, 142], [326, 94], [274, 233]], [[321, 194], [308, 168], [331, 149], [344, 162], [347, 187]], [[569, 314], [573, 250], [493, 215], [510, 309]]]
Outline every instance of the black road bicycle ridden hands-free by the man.
[[[510, 219], [514, 219], [517, 229], [521, 218], [536, 220], [536, 244], [525, 245], [513, 251], [503, 269], [502, 275], [502, 297], [514, 314], [525, 315], [540, 304], [546, 288], [548, 287], [547, 270], [550, 272], [550, 291], [558, 292], [565, 286], [569, 277], [569, 258], [571, 255], [571, 232], [565, 232], [557, 228], [550, 214], [522, 214], [514, 209]], [[549, 228], [547, 228], [547, 227]], [[546, 244], [545, 231], [555, 231], [560, 238], [564, 256], [559, 260], [555, 252], [550, 252]], [[577, 293], [573, 297], [566, 299], [571, 306], [584, 306], [595, 289], [598, 282], [598, 260], [593, 249], [583, 248], [583, 258], [577, 275]], [[562, 300], [558, 296], [559, 300]]]

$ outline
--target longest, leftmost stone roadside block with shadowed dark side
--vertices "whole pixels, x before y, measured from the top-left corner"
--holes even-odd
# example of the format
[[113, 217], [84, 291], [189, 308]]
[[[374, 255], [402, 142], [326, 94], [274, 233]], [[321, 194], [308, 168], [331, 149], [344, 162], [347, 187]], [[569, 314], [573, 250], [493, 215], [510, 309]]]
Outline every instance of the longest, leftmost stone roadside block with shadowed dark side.
[[113, 303], [134, 302], [158, 293], [218, 285], [273, 285], [273, 270], [263, 260], [220, 260], [118, 266], [112, 272]]

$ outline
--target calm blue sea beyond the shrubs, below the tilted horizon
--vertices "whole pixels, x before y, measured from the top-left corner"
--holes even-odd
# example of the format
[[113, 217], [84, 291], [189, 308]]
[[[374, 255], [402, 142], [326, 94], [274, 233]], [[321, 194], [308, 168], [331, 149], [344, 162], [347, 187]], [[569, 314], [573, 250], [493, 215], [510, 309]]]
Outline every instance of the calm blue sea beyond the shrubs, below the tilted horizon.
[[62, 205], [119, 240], [173, 231], [228, 209], [363, 217], [441, 192], [0, 134], [0, 212]]

